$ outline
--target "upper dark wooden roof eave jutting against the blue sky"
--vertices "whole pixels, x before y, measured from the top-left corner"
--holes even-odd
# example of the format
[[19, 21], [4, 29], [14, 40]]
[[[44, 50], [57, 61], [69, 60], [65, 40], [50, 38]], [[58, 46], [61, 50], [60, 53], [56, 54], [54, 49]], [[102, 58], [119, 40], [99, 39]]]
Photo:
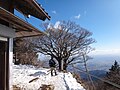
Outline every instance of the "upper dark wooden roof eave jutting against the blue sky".
[[[18, 11], [22, 12], [24, 15], [26, 16], [32, 15], [41, 20], [45, 20], [46, 18], [50, 20], [50, 16], [48, 15], [48, 13], [46, 13], [44, 9], [35, 0], [14, 0], [14, 1], [15, 8]], [[24, 7], [21, 7], [20, 5], [23, 5]]]

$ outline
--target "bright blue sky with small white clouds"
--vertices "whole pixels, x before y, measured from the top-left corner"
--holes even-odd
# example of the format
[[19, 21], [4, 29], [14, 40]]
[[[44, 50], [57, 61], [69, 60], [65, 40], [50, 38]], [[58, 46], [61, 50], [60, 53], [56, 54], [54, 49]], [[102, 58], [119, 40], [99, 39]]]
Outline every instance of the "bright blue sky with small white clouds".
[[[96, 50], [120, 50], [120, 0], [37, 0], [51, 16], [51, 23], [75, 21], [93, 32]], [[42, 21], [28, 19], [40, 28]]]

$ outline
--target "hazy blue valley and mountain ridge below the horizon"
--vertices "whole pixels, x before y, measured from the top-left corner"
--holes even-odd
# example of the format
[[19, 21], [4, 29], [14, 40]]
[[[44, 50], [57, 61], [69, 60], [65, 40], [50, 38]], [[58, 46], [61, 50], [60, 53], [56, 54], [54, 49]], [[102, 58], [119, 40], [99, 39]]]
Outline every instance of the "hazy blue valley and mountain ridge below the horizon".
[[[116, 60], [120, 64], [120, 56], [118, 55], [94, 55], [93, 59], [87, 62], [87, 67], [89, 73], [97, 77], [103, 78], [106, 75], [106, 72], [111, 68]], [[84, 69], [83, 65], [77, 66], [80, 69]], [[79, 73], [81, 78], [87, 80], [87, 75], [84, 73]], [[96, 80], [95, 78], [92, 78]]]

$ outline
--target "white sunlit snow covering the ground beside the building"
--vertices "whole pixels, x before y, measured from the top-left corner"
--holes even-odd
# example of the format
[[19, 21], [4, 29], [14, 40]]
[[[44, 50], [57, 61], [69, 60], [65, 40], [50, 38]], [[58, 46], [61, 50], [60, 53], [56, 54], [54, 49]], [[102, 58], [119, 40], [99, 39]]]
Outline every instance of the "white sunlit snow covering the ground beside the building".
[[[50, 70], [45, 68], [13, 65], [13, 85], [22, 90], [38, 90], [42, 84], [53, 85], [54, 90], [85, 90], [71, 73], [57, 72], [57, 74], [57, 76], [51, 76]], [[29, 83], [35, 78], [37, 80]]]

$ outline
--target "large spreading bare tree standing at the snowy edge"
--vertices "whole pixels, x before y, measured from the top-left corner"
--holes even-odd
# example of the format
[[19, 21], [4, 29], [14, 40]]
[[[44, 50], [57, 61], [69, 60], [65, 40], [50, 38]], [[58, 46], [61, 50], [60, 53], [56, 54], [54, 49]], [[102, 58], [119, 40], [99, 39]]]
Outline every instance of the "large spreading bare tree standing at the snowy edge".
[[45, 28], [47, 34], [36, 38], [33, 44], [37, 52], [54, 57], [60, 70], [66, 70], [72, 62], [81, 62], [79, 52], [95, 42], [91, 32], [74, 22], [63, 21], [57, 27], [48, 26]]

